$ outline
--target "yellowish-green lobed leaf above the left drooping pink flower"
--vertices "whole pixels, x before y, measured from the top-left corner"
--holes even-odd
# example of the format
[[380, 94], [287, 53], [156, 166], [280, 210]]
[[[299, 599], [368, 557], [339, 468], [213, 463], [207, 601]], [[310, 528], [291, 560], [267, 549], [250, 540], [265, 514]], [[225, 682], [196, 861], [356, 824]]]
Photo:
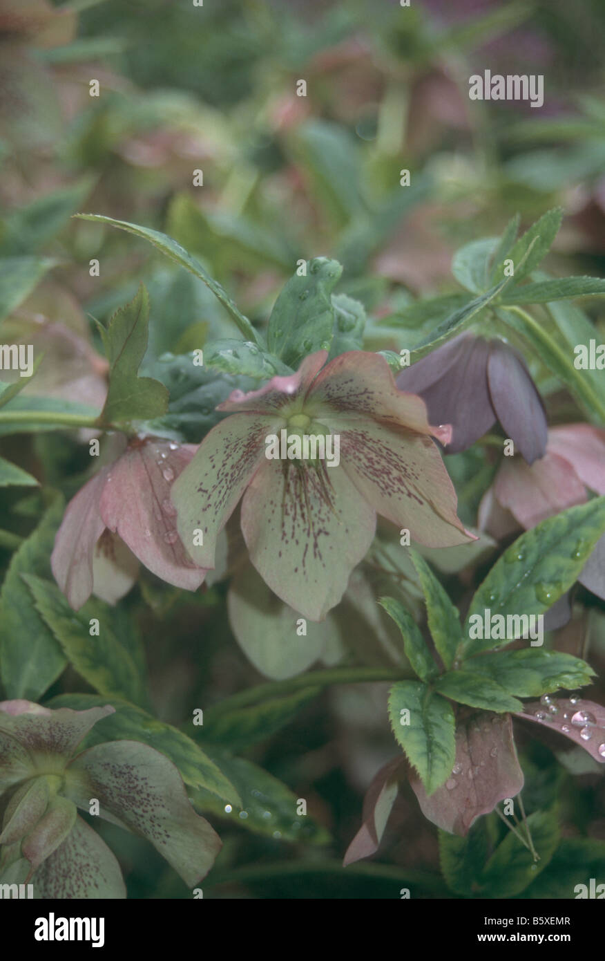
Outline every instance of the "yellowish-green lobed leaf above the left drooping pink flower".
[[101, 418], [108, 424], [151, 420], [168, 407], [163, 383], [138, 377], [147, 350], [149, 296], [141, 284], [130, 304], [116, 310], [107, 331], [102, 331], [109, 360], [109, 390]]

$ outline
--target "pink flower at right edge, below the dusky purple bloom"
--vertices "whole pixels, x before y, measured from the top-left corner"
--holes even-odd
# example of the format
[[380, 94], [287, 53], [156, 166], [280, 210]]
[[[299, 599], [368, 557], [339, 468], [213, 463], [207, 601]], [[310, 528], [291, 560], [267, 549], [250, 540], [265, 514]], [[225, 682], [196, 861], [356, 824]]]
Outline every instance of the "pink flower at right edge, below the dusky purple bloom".
[[[587, 487], [605, 495], [605, 431], [590, 424], [551, 428], [544, 457], [529, 466], [503, 457], [496, 479], [479, 505], [479, 528], [501, 537], [520, 526], [587, 500]], [[596, 542], [580, 583], [605, 600], [605, 535]]]

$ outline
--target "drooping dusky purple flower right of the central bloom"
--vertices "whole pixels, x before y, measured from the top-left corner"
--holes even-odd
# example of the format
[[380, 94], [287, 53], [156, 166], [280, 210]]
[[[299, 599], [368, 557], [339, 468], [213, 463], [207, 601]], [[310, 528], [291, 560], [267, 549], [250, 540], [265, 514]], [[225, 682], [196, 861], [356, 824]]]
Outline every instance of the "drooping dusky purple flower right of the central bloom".
[[458, 454], [499, 421], [528, 464], [545, 454], [546, 415], [525, 363], [502, 340], [463, 333], [401, 371], [400, 390], [419, 394], [430, 421], [451, 424]]

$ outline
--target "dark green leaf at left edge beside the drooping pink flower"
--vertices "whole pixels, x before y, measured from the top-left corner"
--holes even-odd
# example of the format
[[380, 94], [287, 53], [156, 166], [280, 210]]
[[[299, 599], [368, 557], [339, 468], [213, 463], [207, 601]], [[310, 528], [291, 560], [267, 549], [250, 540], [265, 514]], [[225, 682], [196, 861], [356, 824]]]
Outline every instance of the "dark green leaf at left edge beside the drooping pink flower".
[[22, 578], [51, 577], [49, 558], [62, 514], [63, 499], [55, 493], [34, 533], [12, 554], [0, 591], [0, 670], [9, 698], [38, 701], [67, 663]]

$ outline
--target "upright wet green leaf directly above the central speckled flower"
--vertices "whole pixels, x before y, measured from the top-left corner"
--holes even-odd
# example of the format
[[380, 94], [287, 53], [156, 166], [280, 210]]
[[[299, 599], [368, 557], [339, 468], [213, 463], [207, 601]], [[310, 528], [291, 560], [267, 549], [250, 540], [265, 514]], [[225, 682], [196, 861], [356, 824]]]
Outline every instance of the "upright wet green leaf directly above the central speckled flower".
[[269, 350], [297, 368], [307, 354], [329, 350], [334, 332], [330, 293], [342, 274], [337, 260], [316, 257], [306, 263], [306, 276], [295, 274], [285, 284], [271, 311]]

